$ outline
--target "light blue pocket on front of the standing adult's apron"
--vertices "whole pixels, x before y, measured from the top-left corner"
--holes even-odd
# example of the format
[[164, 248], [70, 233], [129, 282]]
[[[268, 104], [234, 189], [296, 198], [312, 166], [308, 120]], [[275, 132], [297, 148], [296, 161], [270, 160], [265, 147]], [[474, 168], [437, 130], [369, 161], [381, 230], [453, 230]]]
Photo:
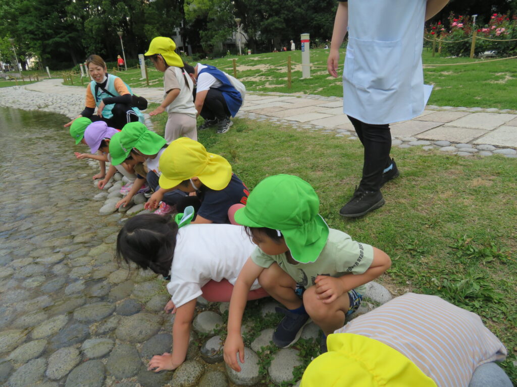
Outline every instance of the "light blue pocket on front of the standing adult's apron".
[[352, 84], [380, 90], [396, 89], [400, 85], [403, 75], [401, 40], [383, 42], [349, 38], [348, 44], [351, 43], [354, 47]]

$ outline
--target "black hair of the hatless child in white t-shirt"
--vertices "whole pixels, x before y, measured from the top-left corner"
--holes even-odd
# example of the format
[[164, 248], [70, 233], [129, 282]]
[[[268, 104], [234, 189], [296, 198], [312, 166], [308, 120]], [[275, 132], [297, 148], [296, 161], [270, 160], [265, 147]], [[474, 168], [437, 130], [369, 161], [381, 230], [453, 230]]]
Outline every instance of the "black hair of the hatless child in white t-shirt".
[[170, 216], [143, 214], [130, 218], [118, 232], [116, 260], [134, 262], [169, 276], [176, 247], [178, 225]]

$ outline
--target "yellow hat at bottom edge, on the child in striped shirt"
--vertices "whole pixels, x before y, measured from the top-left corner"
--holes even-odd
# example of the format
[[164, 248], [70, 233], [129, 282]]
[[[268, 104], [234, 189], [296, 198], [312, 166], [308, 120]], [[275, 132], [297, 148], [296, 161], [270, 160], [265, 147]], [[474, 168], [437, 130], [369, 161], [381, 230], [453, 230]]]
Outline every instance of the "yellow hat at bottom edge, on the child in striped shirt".
[[327, 337], [328, 352], [314, 359], [300, 387], [436, 387], [415, 363], [373, 338], [352, 333]]

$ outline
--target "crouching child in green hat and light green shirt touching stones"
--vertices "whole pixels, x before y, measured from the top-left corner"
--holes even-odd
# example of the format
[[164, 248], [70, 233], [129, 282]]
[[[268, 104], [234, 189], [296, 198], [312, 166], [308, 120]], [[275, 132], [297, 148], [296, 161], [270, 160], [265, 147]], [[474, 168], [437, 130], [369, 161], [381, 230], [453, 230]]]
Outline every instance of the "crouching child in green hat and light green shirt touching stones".
[[279, 347], [298, 340], [309, 317], [324, 334], [343, 326], [360, 304], [363, 286], [380, 276], [391, 261], [383, 251], [329, 229], [318, 214], [316, 192], [297, 176], [276, 175], [250, 193], [235, 221], [247, 227], [257, 248], [242, 268], [230, 302], [224, 360], [237, 372], [244, 362], [240, 334], [249, 286], [259, 283], [287, 310], [273, 333]]

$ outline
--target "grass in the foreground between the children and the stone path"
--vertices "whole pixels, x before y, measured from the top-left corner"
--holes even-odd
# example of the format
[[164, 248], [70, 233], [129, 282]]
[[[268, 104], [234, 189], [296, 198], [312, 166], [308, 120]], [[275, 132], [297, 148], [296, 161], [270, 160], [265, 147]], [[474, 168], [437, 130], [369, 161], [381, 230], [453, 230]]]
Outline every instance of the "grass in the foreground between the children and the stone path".
[[[163, 131], [166, 115], [154, 120]], [[330, 227], [390, 255], [392, 267], [379, 282], [397, 295], [435, 294], [479, 314], [505, 343], [504, 367], [517, 381], [517, 159], [394, 148], [401, 177], [383, 188], [386, 205], [343, 220], [339, 208], [361, 173], [359, 142], [246, 119], [235, 119], [224, 135], [206, 130], [199, 136], [250, 189], [278, 173], [307, 180]], [[300, 345], [307, 357], [317, 351]]]

